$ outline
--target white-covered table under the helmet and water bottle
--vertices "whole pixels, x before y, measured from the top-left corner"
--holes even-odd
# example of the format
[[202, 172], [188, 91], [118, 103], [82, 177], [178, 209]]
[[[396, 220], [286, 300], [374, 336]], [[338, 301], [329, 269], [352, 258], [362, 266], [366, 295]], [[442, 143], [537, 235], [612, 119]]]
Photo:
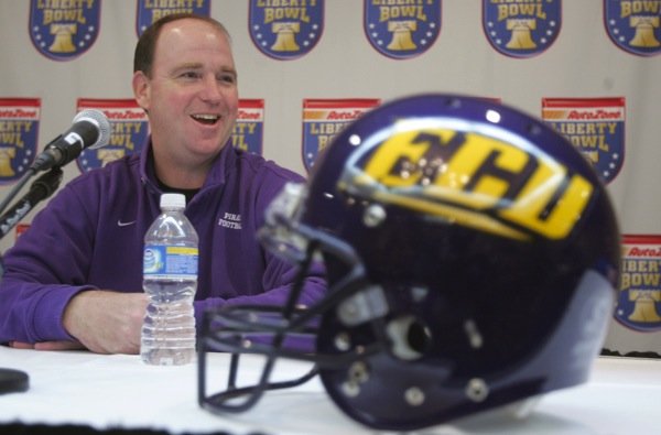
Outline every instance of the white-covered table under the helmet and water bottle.
[[[246, 376], [261, 372], [259, 357], [243, 357]], [[228, 356], [209, 365], [225, 379]], [[171, 434], [381, 434], [349, 420], [313, 379], [269, 392], [243, 414], [218, 416], [197, 405], [197, 366], [153, 367], [138, 356], [37, 351], [0, 347], [0, 367], [30, 376], [23, 393], [0, 395], [0, 424], [79, 424], [152, 428]], [[303, 373], [307, 363], [282, 361], [279, 376]], [[210, 385], [212, 390], [215, 385]], [[483, 415], [418, 432], [454, 434], [661, 434], [661, 360], [599, 357], [588, 383], [542, 398], [523, 421]]]

